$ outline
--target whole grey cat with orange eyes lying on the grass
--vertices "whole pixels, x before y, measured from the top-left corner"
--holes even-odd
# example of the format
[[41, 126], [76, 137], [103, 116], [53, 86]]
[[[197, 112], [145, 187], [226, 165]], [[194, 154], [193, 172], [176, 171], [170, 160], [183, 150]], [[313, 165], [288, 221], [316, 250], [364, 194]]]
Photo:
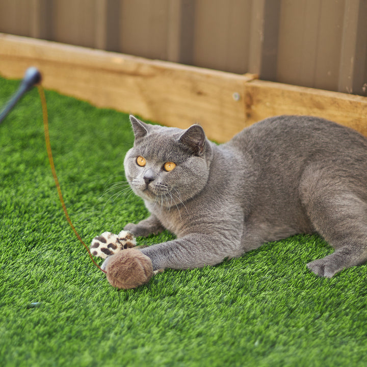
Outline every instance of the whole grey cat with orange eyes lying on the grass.
[[332, 277], [367, 260], [367, 139], [310, 116], [278, 116], [228, 143], [186, 130], [130, 121], [135, 143], [124, 160], [150, 217], [125, 230], [165, 228], [176, 239], [141, 249], [154, 270], [216, 265], [265, 242], [318, 232], [335, 252], [311, 261]]

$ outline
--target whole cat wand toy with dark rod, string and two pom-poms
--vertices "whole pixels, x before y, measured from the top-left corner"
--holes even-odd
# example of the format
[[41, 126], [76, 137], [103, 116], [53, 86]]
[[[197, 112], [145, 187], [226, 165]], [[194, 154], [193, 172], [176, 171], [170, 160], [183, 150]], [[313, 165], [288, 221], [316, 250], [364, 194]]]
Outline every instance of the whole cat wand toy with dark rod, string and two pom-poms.
[[[93, 264], [100, 271], [106, 274], [108, 281], [114, 287], [117, 287], [119, 289], [131, 289], [148, 282], [149, 279], [153, 276], [152, 263], [148, 256], [144, 255], [141, 251], [133, 248], [136, 246], [136, 240], [132, 233], [121, 231], [118, 235], [116, 235], [110, 232], [104, 232], [99, 237], [95, 237], [93, 239], [90, 250], [73, 226], [67, 212], [67, 208], [60, 188], [59, 179], [57, 177], [54, 165], [48, 132], [46, 97], [43, 87], [41, 86], [41, 81], [42, 75], [37, 68], [30, 67], [27, 69], [27, 71], [25, 71], [23, 80], [18, 90], [14, 93], [14, 95], [6, 104], [3, 111], [0, 113], [0, 123], [2, 123], [2, 121], [13, 109], [16, 103], [21, 99], [21, 97], [26, 92], [30, 91], [35, 85], [37, 85], [42, 103], [44, 135], [51, 172], [54, 177], [55, 185], [66, 220], [69, 223], [74, 234], [76, 235], [76, 238], [88, 251], [88, 254]], [[94, 260], [93, 255], [101, 258], [108, 257], [108, 259], [105, 260], [105, 262], [102, 264], [102, 267], [100, 267]]]

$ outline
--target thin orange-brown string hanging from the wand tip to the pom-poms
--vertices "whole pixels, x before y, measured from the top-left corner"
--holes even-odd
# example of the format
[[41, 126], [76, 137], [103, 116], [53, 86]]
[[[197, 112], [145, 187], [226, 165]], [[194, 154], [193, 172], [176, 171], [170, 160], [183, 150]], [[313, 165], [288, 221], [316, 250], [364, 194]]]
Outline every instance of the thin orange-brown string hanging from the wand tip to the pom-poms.
[[61, 188], [60, 188], [60, 183], [59, 183], [59, 179], [57, 177], [56, 174], [56, 169], [55, 169], [55, 165], [54, 165], [54, 159], [53, 159], [53, 154], [51, 151], [51, 144], [50, 144], [50, 139], [49, 139], [49, 132], [48, 132], [48, 115], [47, 115], [47, 104], [46, 104], [46, 97], [44, 94], [44, 90], [43, 87], [39, 84], [37, 85], [38, 88], [38, 93], [40, 95], [41, 98], [41, 103], [42, 103], [42, 114], [43, 114], [43, 127], [44, 127], [44, 134], [45, 134], [45, 141], [46, 141], [46, 149], [47, 149], [47, 155], [48, 155], [48, 160], [49, 160], [49, 164], [51, 166], [51, 171], [52, 174], [54, 176], [54, 180], [55, 180], [55, 184], [56, 184], [56, 188], [59, 194], [59, 199], [66, 217], [66, 220], [68, 221], [71, 229], [73, 230], [73, 232], [76, 235], [76, 238], [81, 242], [81, 244], [86, 248], [86, 250], [88, 251], [89, 257], [91, 258], [91, 260], [93, 261], [93, 264], [103, 273], [107, 273], [106, 271], [104, 271], [94, 260], [93, 255], [91, 254], [88, 246], [84, 243], [84, 241], [82, 240], [82, 238], [80, 237], [79, 233], [76, 231], [75, 227], [73, 226], [71, 219], [69, 217], [69, 214], [67, 212], [66, 209], [66, 205], [64, 202], [64, 198], [63, 195], [61, 193]]

